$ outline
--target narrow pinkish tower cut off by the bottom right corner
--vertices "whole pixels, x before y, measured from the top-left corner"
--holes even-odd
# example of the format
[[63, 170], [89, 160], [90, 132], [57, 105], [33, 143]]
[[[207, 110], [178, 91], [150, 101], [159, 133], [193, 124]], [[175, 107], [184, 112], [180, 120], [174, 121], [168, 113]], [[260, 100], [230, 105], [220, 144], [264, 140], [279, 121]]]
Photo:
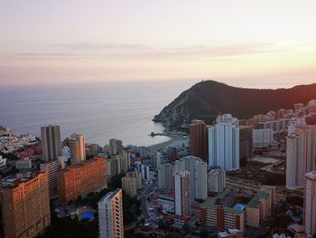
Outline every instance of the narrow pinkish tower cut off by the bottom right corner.
[[304, 229], [308, 238], [316, 233], [316, 171], [305, 175]]

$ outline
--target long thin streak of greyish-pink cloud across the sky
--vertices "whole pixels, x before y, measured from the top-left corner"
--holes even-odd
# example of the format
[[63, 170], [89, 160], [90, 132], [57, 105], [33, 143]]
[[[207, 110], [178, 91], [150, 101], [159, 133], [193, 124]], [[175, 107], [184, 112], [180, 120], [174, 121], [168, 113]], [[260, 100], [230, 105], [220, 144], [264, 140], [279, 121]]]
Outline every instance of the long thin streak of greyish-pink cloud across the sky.
[[[12, 60], [211, 60], [249, 54], [283, 52], [286, 48], [274, 43], [240, 43], [219, 46], [205, 44], [186, 47], [162, 47], [143, 44], [67, 43], [51, 45], [42, 52], [3, 54]], [[1, 58], [0, 58], [1, 59]]]

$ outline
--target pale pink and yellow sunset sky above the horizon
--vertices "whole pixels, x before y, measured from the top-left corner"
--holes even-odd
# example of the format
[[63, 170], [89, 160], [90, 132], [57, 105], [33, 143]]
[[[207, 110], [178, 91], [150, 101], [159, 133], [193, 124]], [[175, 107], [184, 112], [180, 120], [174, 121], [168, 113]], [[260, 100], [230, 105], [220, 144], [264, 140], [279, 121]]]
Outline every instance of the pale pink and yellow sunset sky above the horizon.
[[0, 86], [316, 76], [314, 0], [1, 0]]

